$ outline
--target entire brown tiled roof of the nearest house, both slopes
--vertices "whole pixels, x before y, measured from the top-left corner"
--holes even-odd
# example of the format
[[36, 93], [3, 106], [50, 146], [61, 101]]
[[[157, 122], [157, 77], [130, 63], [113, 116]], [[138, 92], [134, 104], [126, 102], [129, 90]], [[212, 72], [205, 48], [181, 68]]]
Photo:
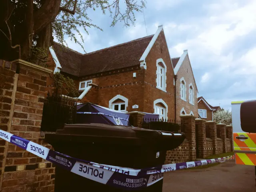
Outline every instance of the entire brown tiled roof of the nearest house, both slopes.
[[61, 71], [80, 77], [139, 65], [140, 58], [153, 36], [146, 36], [87, 54], [81, 54], [57, 42], [53, 43], [53, 49]]

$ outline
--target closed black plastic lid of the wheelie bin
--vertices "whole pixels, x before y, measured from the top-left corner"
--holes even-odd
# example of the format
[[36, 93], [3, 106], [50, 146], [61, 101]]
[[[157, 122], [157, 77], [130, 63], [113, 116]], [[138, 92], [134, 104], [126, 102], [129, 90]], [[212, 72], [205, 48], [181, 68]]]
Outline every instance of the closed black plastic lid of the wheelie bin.
[[185, 134], [181, 132], [163, 132], [131, 126], [114, 126], [107, 124], [66, 124], [56, 134], [47, 134], [58, 141], [73, 140], [74, 142], [88, 142], [108, 144], [150, 145], [159, 151], [172, 150], [182, 144]]

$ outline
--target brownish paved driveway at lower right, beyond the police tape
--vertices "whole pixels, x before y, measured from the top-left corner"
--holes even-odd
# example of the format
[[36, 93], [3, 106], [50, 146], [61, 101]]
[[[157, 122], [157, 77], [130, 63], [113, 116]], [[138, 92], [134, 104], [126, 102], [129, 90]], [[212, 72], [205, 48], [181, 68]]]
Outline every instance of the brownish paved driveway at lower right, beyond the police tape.
[[235, 160], [207, 169], [178, 170], [164, 175], [163, 192], [255, 192], [254, 166]]

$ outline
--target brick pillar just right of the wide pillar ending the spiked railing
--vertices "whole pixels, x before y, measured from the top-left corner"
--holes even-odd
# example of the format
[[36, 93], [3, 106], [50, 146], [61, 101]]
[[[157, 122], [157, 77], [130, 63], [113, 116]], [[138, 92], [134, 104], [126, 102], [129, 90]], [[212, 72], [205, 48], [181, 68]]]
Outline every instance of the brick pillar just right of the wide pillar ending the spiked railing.
[[198, 149], [199, 157], [204, 158], [206, 156], [206, 132], [205, 132], [205, 122], [204, 119], [196, 119], [196, 125], [198, 127]]

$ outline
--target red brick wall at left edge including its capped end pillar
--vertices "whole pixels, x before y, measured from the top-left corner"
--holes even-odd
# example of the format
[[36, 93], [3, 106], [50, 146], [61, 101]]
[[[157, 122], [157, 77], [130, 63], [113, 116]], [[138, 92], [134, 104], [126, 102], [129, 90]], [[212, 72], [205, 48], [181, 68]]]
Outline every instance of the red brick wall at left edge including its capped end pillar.
[[[0, 91], [5, 95], [4, 100], [0, 101], [0, 106], [9, 117], [8, 120], [4, 118], [4, 124], [0, 125], [1, 129], [40, 143], [40, 125], [48, 72], [32, 65], [28, 68], [20, 62], [19, 74], [16, 74], [16, 63], [8, 65], [5, 63], [5, 67], [9, 69], [0, 66], [1, 76], [4, 75], [8, 80], [4, 89]], [[1, 192], [54, 190], [54, 179], [51, 178], [54, 172], [43, 170], [50, 168], [51, 164], [2, 139], [0, 144], [5, 148], [1, 158]]]

